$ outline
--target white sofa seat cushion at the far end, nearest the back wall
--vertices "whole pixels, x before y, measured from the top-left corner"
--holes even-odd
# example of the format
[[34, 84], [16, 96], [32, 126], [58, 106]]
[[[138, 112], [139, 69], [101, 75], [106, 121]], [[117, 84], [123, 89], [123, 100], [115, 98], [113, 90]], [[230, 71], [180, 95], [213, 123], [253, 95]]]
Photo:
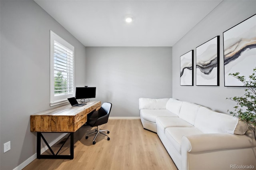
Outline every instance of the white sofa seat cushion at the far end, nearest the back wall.
[[166, 109], [142, 109], [140, 110], [140, 117], [146, 121], [156, 123], [157, 117], [178, 117]]

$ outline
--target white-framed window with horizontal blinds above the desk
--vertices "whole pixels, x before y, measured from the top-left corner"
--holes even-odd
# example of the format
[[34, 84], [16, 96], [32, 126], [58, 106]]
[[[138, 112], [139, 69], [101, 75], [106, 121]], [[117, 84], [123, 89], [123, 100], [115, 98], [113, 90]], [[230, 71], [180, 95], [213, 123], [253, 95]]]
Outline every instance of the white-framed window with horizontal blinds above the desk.
[[74, 46], [50, 31], [50, 106], [74, 96]]

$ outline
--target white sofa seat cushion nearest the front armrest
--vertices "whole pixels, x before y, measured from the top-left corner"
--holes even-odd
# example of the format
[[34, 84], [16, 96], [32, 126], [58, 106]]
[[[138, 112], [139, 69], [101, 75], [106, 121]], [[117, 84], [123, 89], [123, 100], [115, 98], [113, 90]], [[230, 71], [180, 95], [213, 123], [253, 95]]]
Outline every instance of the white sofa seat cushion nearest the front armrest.
[[196, 127], [168, 127], [165, 129], [165, 135], [172, 143], [174, 148], [181, 154], [181, 139], [182, 136], [202, 134]]

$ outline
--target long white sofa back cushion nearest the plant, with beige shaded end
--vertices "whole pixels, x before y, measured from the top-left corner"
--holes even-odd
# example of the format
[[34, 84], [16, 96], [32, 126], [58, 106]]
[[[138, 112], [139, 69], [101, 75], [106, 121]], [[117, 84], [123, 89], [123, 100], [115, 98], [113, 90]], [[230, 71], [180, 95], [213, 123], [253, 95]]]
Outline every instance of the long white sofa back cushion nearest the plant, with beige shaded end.
[[198, 109], [195, 127], [204, 133], [245, 134], [247, 130], [247, 125], [236, 117], [206, 107]]

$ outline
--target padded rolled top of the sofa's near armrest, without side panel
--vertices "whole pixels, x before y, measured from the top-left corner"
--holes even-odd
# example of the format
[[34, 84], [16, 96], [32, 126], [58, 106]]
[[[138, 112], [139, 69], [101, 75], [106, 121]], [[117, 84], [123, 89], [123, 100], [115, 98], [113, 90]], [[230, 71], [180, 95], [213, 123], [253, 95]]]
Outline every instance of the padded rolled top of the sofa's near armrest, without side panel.
[[182, 136], [183, 152], [256, 147], [256, 141], [247, 135], [229, 133], [196, 134]]

